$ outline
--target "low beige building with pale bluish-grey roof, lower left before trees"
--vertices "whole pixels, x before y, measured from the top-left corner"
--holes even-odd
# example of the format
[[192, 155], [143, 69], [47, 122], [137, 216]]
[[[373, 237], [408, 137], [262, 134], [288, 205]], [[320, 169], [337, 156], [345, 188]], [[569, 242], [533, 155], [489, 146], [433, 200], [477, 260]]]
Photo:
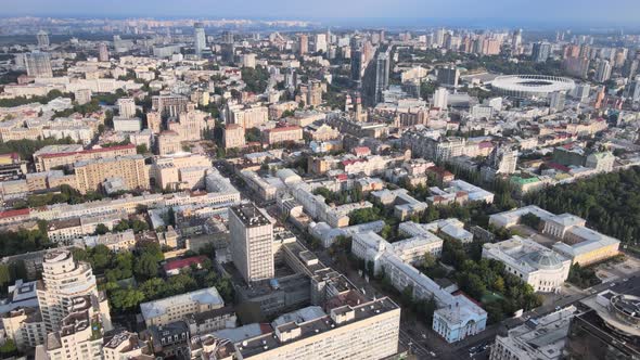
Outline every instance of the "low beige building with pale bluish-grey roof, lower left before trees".
[[155, 301], [142, 303], [140, 304], [140, 312], [146, 326], [163, 326], [175, 321], [184, 320], [192, 314], [223, 307], [225, 300], [222, 300], [218, 291], [215, 287], [207, 287]]

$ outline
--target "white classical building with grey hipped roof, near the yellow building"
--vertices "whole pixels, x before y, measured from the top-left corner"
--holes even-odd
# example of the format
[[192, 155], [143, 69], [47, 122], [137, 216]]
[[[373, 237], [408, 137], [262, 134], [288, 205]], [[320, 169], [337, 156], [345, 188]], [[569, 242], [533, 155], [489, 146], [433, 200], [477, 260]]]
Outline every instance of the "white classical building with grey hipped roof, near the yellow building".
[[571, 259], [548, 249], [530, 239], [513, 236], [499, 243], [487, 243], [483, 257], [504, 263], [504, 269], [532, 285], [534, 291], [558, 293], [568, 278]]

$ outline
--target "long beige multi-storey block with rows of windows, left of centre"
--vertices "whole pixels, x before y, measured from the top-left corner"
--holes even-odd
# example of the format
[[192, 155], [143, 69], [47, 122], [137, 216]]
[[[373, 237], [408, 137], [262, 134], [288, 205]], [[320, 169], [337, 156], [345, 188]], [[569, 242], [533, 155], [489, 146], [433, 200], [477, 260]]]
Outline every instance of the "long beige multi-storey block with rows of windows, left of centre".
[[149, 169], [142, 155], [78, 162], [74, 168], [77, 189], [82, 194], [100, 190], [108, 178], [123, 179], [129, 190], [149, 189]]

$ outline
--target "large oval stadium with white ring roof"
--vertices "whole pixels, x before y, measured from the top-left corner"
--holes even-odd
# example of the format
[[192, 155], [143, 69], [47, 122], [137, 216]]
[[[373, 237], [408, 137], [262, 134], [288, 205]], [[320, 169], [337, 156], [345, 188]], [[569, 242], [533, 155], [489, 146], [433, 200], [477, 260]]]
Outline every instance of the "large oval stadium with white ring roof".
[[548, 98], [555, 91], [568, 92], [576, 87], [574, 80], [547, 75], [505, 75], [491, 81], [494, 90], [505, 97]]

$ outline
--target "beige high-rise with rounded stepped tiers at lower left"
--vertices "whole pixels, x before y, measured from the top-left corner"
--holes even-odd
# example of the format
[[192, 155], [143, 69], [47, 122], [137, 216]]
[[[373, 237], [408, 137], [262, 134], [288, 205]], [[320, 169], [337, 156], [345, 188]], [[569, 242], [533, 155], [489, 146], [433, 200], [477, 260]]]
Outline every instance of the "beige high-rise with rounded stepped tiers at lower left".
[[85, 296], [89, 296], [90, 301], [99, 303], [104, 329], [111, 330], [108, 304], [104, 295], [98, 292], [91, 265], [76, 261], [69, 249], [47, 252], [37, 294], [42, 322], [48, 332], [64, 327], [63, 320], [76, 311], [76, 299]]

